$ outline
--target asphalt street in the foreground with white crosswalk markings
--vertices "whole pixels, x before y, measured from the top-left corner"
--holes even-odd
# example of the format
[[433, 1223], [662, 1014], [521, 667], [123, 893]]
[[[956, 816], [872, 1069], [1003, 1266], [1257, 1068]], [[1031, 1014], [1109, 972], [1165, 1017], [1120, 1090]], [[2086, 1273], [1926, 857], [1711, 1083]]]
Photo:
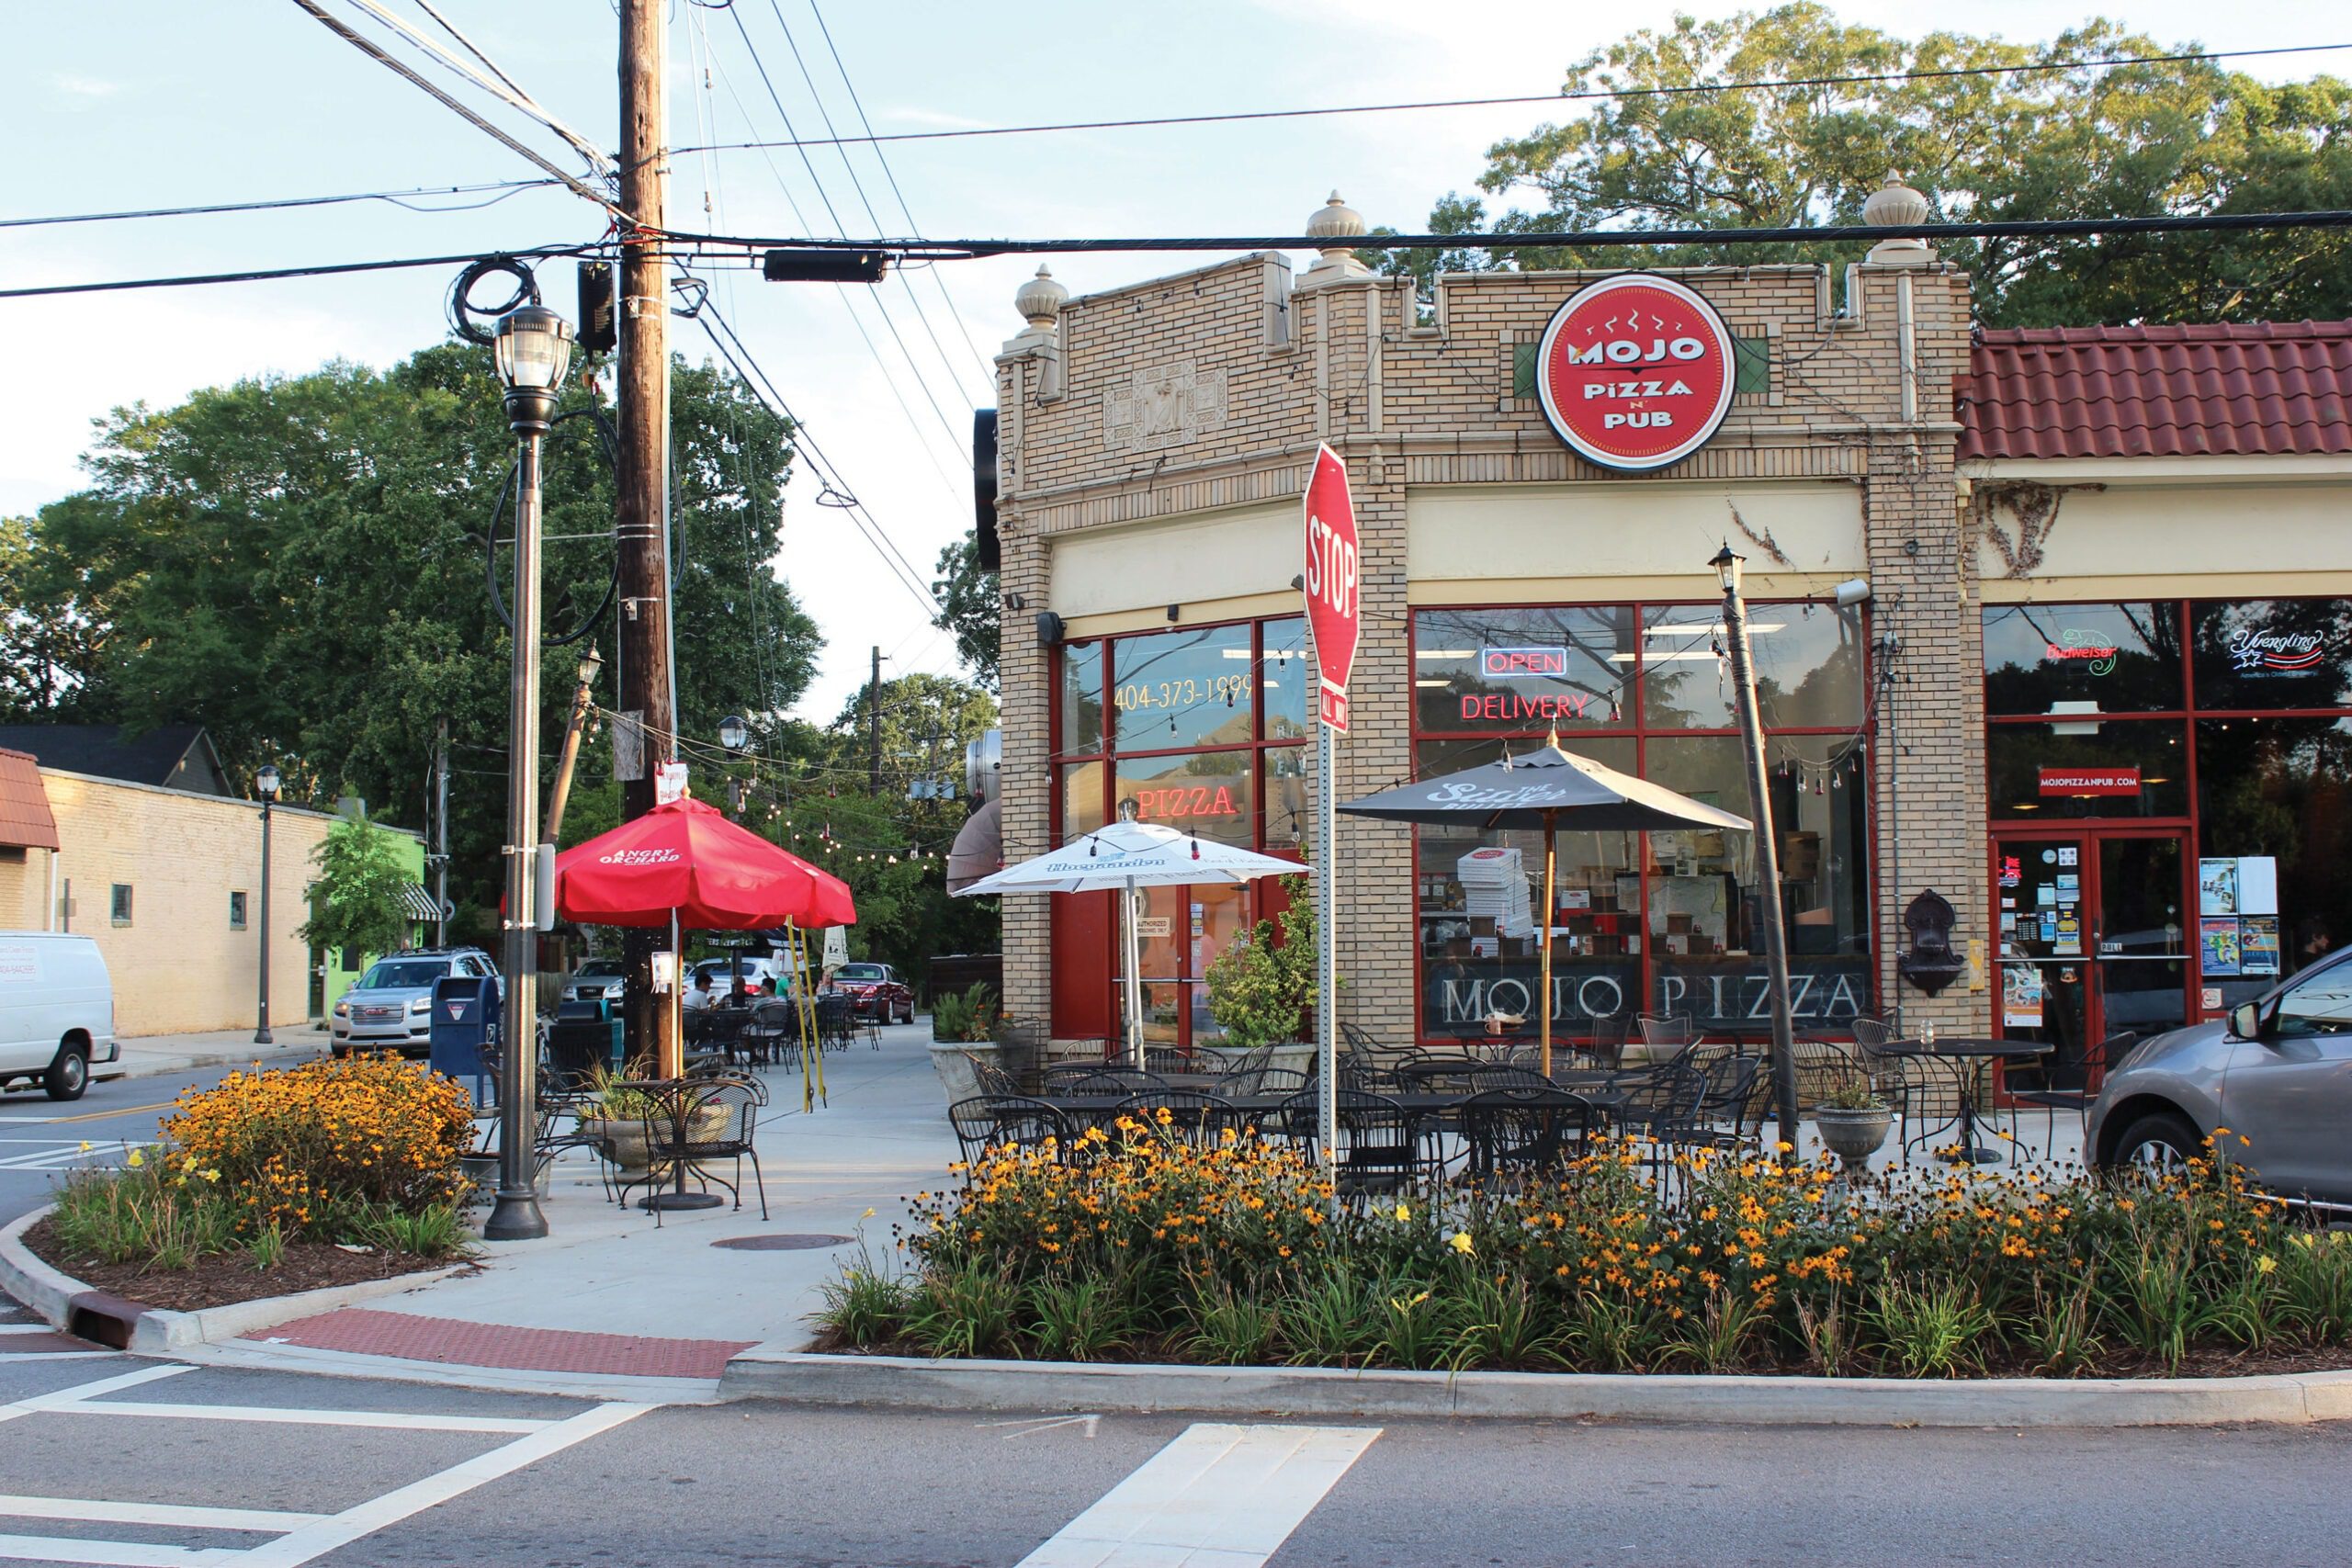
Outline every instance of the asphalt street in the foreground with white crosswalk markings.
[[[2331, 1427], [1388, 1422], [1301, 1436], [1181, 1415], [642, 1408], [191, 1371], [71, 1352], [31, 1328], [21, 1314], [0, 1324], [0, 1554], [19, 1561], [2333, 1568], [2352, 1556], [2352, 1432]], [[1336, 1455], [1322, 1469], [1317, 1443]], [[1200, 1455], [1223, 1458], [1202, 1469]], [[1157, 1514], [1138, 1493], [1152, 1476]], [[1185, 1559], [1089, 1540], [1145, 1514], [1162, 1535], [1256, 1530], [1261, 1549], [1240, 1540]]]

